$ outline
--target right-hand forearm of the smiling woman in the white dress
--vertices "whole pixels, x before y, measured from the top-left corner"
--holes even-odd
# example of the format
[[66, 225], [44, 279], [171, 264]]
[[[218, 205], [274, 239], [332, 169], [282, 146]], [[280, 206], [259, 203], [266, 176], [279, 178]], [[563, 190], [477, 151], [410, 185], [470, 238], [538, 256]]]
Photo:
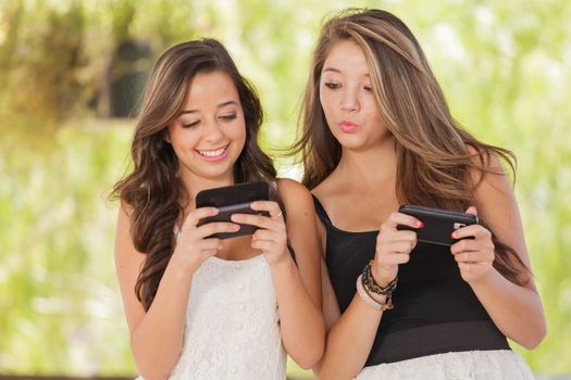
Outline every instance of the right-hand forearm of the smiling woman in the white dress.
[[291, 358], [309, 369], [323, 354], [325, 322], [311, 300], [290, 256], [272, 266], [280, 327], [284, 346]]

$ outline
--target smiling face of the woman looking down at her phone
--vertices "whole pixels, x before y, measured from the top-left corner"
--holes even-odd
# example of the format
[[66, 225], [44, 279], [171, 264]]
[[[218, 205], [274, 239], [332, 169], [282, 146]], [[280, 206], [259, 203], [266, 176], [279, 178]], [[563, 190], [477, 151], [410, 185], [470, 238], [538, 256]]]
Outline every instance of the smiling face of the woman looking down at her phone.
[[183, 181], [232, 183], [246, 142], [246, 123], [236, 86], [222, 72], [198, 73], [188, 86], [167, 141]]

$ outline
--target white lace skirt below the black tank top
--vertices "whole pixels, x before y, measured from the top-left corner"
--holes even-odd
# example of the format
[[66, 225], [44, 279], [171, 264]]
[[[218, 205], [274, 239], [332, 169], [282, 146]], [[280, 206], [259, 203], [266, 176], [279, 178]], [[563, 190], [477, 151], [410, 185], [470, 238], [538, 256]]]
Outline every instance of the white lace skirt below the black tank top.
[[357, 380], [533, 380], [520, 355], [509, 350], [430, 355], [364, 368]]

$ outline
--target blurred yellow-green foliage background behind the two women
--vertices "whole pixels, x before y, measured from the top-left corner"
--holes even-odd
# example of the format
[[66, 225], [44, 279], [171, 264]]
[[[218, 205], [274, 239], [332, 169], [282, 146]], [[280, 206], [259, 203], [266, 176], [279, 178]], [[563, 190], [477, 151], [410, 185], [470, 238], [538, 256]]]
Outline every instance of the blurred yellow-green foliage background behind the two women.
[[[117, 47], [207, 35], [258, 87], [263, 143], [287, 144], [323, 16], [395, 12], [424, 47], [452, 114], [518, 156], [516, 192], [549, 333], [523, 354], [571, 363], [571, 3], [545, 0], [0, 0], [0, 372], [134, 373], [114, 277], [116, 204], [133, 121], [111, 121]], [[301, 373], [291, 366], [291, 373]]]

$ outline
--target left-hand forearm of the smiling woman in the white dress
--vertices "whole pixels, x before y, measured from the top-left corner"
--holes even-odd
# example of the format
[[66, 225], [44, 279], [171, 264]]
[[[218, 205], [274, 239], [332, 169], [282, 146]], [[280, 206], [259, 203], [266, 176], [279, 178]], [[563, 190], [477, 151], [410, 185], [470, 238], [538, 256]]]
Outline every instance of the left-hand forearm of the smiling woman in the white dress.
[[190, 275], [170, 263], [151, 307], [132, 333], [133, 356], [139, 375], [146, 380], [166, 379], [176, 365], [183, 345], [190, 281]]

